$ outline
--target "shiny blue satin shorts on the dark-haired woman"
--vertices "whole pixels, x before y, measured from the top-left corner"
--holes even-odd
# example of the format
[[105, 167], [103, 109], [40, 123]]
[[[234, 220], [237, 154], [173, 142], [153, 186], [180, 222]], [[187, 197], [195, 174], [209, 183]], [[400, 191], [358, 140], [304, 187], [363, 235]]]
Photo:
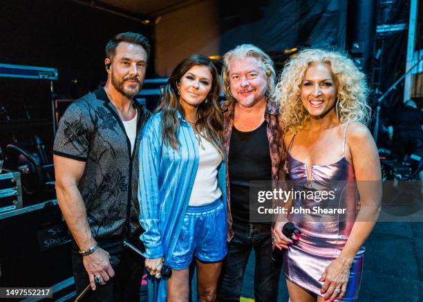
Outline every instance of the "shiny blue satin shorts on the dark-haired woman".
[[195, 256], [200, 261], [216, 262], [227, 254], [227, 215], [219, 198], [205, 205], [188, 206], [175, 250], [166, 263], [183, 270]]

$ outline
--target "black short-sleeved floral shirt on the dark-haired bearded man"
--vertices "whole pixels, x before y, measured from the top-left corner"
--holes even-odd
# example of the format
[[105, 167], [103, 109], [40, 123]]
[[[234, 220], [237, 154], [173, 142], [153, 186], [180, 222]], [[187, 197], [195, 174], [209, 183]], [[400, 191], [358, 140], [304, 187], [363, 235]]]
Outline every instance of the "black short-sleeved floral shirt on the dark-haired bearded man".
[[118, 111], [100, 88], [68, 107], [57, 129], [53, 153], [86, 162], [78, 189], [95, 238], [122, 238], [140, 227], [138, 216], [138, 152], [150, 113], [138, 111], [133, 153]]

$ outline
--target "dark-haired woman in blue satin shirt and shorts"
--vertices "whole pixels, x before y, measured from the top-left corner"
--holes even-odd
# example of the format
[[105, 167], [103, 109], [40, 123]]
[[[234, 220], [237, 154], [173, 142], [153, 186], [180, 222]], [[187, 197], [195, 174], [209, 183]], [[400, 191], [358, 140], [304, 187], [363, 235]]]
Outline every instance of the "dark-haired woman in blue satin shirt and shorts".
[[[140, 225], [145, 267], [156, 276], [156, 301], [188, 301], [189, 265], [197, 267], [198, 299], [214, 301], [227, 254], [225, 149], [220, 85], [200, 55], [175, 70], [144, 127], [140, 146]], [[169, 265], [169, 280], [160, 269]]]

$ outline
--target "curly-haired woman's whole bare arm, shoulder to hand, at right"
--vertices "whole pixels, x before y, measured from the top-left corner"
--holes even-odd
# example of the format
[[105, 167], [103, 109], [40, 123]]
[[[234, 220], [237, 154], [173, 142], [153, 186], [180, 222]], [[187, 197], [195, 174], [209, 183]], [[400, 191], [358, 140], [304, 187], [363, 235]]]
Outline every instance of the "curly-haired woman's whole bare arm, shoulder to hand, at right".
[[[379, 155], [370, 131], [360, 122], [351, 122], [346, 133], [346, 158], [353, 162], [361, 208], [341, 254], [321, 275], [321, 294], [326, 300], [344, 297], [354, 256], [372, 231], [382, 200]], [[370, 181], [369, 181], [370, 180]]]

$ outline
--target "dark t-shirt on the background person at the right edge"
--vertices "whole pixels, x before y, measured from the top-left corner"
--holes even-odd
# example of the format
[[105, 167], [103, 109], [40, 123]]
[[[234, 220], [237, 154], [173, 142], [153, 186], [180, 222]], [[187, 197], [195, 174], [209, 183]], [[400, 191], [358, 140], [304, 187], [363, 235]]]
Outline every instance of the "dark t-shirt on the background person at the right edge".
[[394, 138], [414, 138], [423, 140], [423, 113], [411, 106], [400, 108], [389, 117], [388, 126], [394, 128]]

